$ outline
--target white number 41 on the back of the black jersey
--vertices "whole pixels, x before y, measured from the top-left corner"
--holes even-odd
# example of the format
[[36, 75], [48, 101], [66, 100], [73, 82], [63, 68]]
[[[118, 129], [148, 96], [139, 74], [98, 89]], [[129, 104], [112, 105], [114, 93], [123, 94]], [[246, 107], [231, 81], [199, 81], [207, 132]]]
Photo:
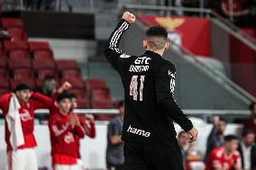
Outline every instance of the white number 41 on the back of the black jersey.
[[[140, 101], [143, 100], [143, 87], [145, 76], [140, 76]], [[130, 95], [133, 96], [133, 100], [138, 100], [138, 76], [133, 76], [130, 84]]]

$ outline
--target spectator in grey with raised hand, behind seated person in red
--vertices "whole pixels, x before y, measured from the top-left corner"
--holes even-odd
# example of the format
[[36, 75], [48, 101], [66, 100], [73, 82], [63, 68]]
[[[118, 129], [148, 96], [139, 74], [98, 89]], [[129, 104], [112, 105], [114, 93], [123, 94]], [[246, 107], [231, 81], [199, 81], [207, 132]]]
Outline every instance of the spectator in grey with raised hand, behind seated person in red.
[[224, 130], [226, 129], [227, 122], [224, 118], [214, 116], [213, 123], [214, 127], [207, 139], [206, 157], [213, 149], [224, 145]]

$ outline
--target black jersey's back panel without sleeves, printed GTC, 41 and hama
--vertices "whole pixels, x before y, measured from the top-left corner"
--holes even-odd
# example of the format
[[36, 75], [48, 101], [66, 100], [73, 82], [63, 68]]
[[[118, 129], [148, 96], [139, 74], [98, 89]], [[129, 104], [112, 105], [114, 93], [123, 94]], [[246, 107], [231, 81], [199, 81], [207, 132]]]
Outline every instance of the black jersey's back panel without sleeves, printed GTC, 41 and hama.
[[173, 125], [157, 105], [156, 79], [159, 68], [169, 65], [173, 66], [150, 50], [140, 57], [131, 57], [123, 64], [120, 75], [125, 95], [124, 140], [142, 142], [176, 140], [173, 138], [175, 137]]

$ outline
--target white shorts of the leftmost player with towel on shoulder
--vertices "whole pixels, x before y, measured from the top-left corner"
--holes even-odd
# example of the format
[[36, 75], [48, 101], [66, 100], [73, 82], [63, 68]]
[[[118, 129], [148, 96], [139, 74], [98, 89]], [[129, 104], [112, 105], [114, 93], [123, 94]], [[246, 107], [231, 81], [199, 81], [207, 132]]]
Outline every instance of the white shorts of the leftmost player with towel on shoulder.
[[34, 148], [12, 150], [7, 155], [8, 170], [38, 170]]

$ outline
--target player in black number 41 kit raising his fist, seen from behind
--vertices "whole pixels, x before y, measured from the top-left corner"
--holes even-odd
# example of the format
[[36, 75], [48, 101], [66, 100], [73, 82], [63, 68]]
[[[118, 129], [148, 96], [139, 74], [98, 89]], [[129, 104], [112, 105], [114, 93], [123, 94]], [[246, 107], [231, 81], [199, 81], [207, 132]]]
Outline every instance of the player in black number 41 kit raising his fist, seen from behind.
[[183, 159], [173, 121], [190, 134], [189, 142], [196, 141], [198, 132], [173, 98], [176, 69], [162, 58], [169, 49], [168, 31], [160, 26], [149, 28], [143, 41], [145, 53], [130, 56], [118, 45], [133, 22], [133, 13], [123, 13], [105, 49], [105, 57], [123, 82], [123, 169], [181, 170]]

